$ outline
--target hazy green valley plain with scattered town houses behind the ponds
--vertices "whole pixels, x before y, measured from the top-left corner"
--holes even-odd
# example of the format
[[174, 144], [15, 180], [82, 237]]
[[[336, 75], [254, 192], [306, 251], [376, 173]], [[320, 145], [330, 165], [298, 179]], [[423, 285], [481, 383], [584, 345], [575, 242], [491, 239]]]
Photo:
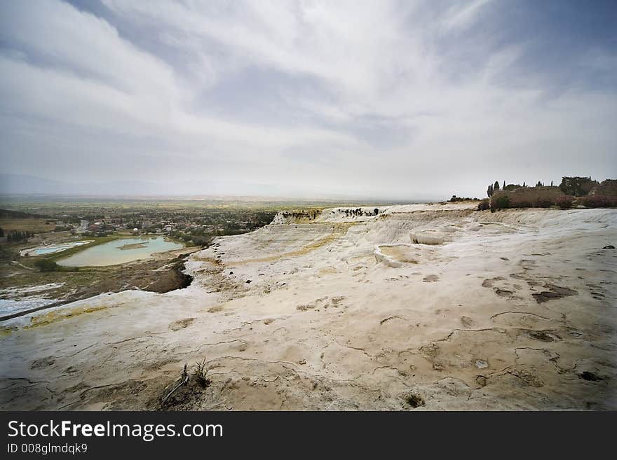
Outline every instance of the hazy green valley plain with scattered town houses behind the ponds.
[[[204, 246], [213, 237], [250, 232], [272, 221], [271, 204], [217, 207], [213, 202], [9, 202], [4, 203], [0, 225], [7, 242], [40, 232], [107, 237], [111, 235], [166, 235], [187, 245]], [[25, 219], [20, 228], [21, 219]], [[8, 225], [7, 225], [8, 224]], [[27, 225], [26, 225], [27, 224]], [[15, 228], [16, 227], [16, 228]]]

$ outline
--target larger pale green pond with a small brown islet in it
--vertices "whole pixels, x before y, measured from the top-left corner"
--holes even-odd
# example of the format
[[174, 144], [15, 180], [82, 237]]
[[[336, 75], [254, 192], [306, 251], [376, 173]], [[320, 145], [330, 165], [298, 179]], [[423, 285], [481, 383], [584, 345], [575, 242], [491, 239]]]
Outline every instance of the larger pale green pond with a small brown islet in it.
[[155, 252], [182, 249], [183, 244], [165, 241], [165, 237], [120, 238], [86, 248], [57, 261], [66, 267], [102, 267], [151, 258]]

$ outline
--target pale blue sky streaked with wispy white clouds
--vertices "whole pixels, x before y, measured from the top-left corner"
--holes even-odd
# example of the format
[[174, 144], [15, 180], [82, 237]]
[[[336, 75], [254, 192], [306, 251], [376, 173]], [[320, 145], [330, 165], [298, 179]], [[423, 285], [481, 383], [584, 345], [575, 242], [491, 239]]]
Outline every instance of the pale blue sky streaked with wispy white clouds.
[[599, 0], [2, 1], [1, 172], [396, 200], [615, 179], [616, 23]]

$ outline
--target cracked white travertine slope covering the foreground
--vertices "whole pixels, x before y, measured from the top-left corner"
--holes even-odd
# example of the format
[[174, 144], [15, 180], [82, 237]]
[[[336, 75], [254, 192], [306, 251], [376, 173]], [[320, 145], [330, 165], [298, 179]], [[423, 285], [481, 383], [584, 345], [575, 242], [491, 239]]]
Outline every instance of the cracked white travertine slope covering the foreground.
[[616, 410], [617, 210], [474, 207], [278, 216], [188, 288], [4, 321], [0, 408]]

